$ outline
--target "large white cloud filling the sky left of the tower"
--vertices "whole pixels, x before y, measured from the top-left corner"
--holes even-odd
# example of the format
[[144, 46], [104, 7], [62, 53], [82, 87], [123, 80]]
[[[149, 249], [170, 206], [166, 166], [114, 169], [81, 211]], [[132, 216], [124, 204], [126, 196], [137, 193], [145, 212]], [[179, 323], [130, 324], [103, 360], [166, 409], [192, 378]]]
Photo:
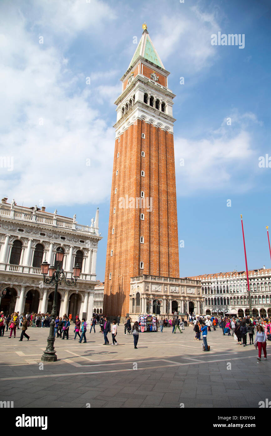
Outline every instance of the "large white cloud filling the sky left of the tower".
[[[68, 25], [71, 14], [74, 31], [86, 27], [82, 2], [68, 3], [74, 7], [67, 7], [67, 2], [44, 2], [45, 15], [40, 20], [51, 7], [51, 25], [58, 24], [59, 31]], [[97, 2], [92, 1], [92, 7], [93, 3]], [[96, 17], [91, 18], [96, 27], [99, 19], [106, 20], [103, 7], [108, 9], [99, 3]], [[42, 199], [47, 207], [105, 201], [110, 196], [114, 129], [97, 109], [95, 88], [85, 84], [82, 74], [74, 76], [61, 44], [39, 44], [26, 20], [14, 10], [3, 23], [0, 39], [0, 154], [14, 157], [13, 171], [0, 170], [1, 192], [18, 204]], [[114, 90], [97, 90], [103, 92], [112, 99]]]

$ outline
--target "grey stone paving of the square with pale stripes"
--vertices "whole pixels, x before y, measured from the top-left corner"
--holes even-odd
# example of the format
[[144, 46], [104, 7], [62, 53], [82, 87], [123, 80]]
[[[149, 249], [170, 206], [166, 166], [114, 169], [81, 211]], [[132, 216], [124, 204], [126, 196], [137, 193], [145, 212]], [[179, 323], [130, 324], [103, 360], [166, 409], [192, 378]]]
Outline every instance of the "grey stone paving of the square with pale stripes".
[[253, 345], [240, 346], [221, 329], [208, 333], [205, 353], [192, 327], [141, 333], [134, 349], [123, 325], [117, 346], [103, 345], [99, 328], [79, 344], [71, 326], [68, 341], [56, 338], [57, 362], [43, 365], [49, 329], [30, 327], [22, 343], [19, 333], [0, 337], [1, 401], [14, 408], [258, 408], [270, 396], [269, 344], [268, 360], [259, 362]]

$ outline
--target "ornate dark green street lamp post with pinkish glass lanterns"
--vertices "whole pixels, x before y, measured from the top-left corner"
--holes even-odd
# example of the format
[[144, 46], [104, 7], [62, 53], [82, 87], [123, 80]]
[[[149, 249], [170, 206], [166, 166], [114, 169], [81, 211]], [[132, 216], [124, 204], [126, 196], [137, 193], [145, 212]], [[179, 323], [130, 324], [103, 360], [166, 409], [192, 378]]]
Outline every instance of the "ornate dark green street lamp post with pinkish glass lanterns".
[[[50, 322], [50, 331], [49, 336], [47, 337], [47, 348], [44, 351], [43, 355], [41, 356], [42, 362], [55, 362], [57, 361], [57, 355], [56, 351], [54, 349], [54, 324], [56, 319], [56, 307], [57, 307], [57, 288], [58, 285], [61, 285], [61, 282], [64, 281], [67, 286], [76, 286], [77, 279], [80, 276], [80, 267], [78, 265], [75, 265], [73, 268], [73, 274], [74, 277], [72, 277], [70, 280], [66, 280], [64, 269], [62, 268], [60, 270], [60, 263], [63, 260], [64, 252], [58, 251], [56, 254], [56, 260], [57, 260], [57, 269], [54, 268], [53, 265], [49, 268], [49, 263], [44, 260], [41, 264], [41, 272], [43, 274], [43, 281], [47, 283], [48, 285], [54, 283], [54, 302], [51, 312], [51, 322]], [[47, 278], [47, 274], [49, 271], [49, 278]]]

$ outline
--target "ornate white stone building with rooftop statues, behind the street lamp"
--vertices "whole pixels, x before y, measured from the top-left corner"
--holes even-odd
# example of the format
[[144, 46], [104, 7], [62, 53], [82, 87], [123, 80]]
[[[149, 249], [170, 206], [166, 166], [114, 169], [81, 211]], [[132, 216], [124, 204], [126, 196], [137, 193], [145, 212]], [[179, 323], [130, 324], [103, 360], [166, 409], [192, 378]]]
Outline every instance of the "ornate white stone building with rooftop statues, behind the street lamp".
[[55, 264], [57, 250], [64, 250], [62, 268], [67, 279], [75, 264], [80, 266], [77, 285], [58, 286], [57, 314], [77, 313], [88, 320], [93, 313], [99, 210], [91, 225], [78, 225], [76, 215], [67, 218], [45, 208], [17, 206], [13, 200], [0, 203], [0, 310], [12, 313], [51, 311], [54, 286], [43, 282], [40, 264]]

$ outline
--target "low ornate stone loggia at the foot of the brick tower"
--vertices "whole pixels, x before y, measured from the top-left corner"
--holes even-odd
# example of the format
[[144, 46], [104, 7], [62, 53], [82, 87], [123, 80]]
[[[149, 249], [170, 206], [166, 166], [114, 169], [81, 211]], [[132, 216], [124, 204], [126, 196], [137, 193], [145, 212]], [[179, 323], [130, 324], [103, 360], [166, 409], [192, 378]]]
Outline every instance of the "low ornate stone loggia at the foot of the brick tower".
[[142, 276], [130, 282], [130, 317], [157, 313], [161, 317], [174, 312], [203, 314], [201, 282], [195, 279]]

